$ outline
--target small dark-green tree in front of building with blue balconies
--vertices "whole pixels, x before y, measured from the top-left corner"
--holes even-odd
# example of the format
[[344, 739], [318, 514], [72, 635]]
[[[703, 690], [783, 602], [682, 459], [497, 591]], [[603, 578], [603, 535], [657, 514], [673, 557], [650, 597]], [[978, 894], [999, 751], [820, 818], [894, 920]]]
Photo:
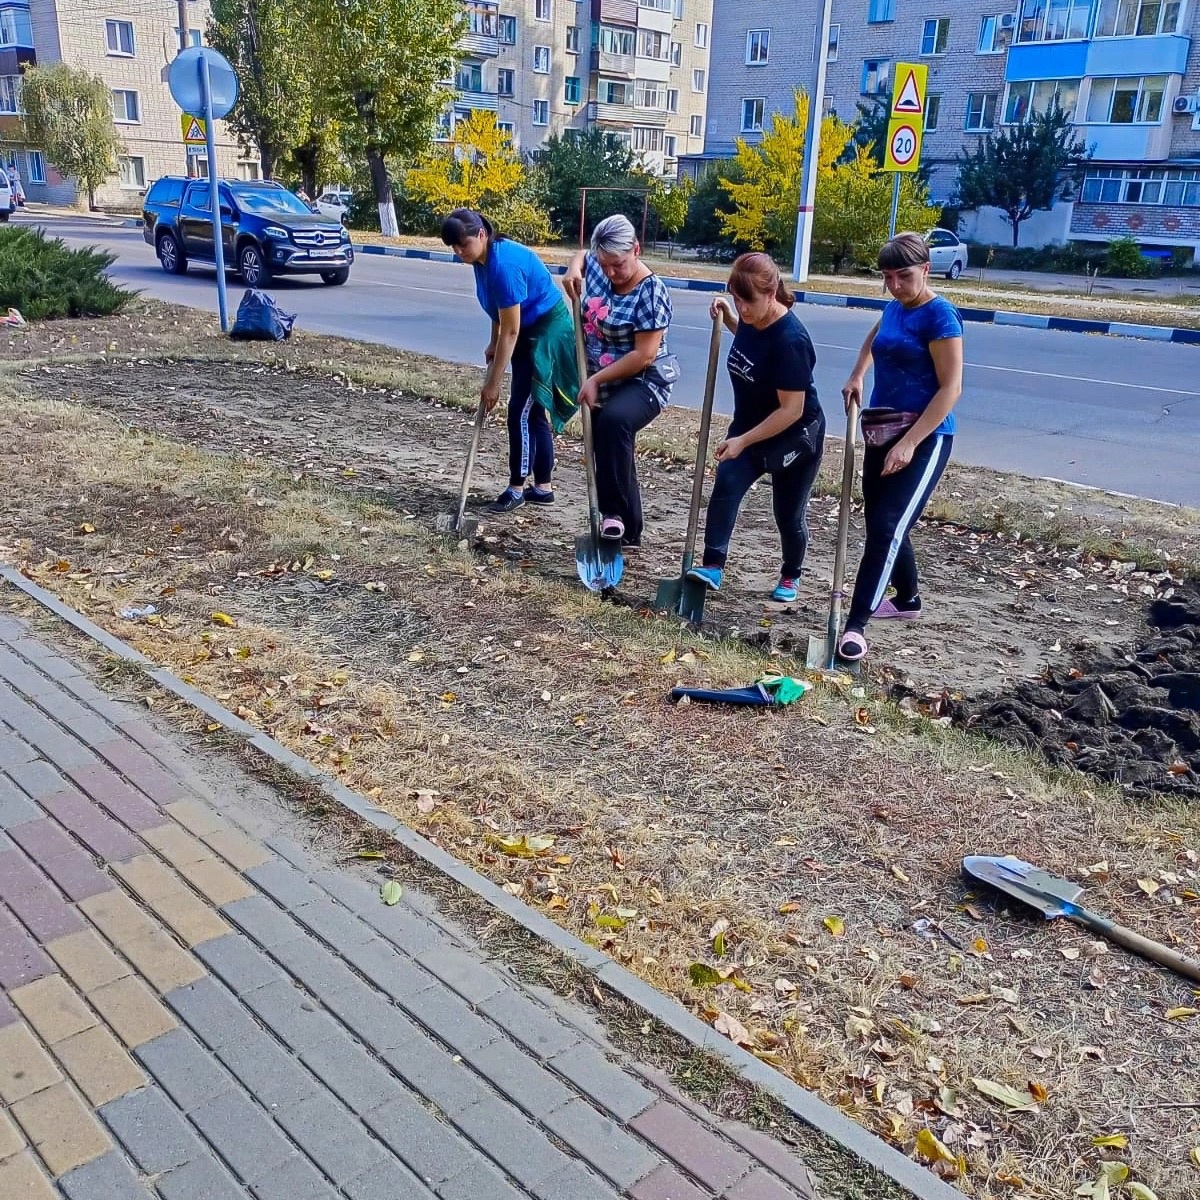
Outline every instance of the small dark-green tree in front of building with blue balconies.
[[1069, 199], [1091, 158], [1070, 118], [1057, 103], [1046, 113], [989, 133], [974, 151], [959, 155], [956, 203], [997, 208], [1020, 242], [1021, 222]]

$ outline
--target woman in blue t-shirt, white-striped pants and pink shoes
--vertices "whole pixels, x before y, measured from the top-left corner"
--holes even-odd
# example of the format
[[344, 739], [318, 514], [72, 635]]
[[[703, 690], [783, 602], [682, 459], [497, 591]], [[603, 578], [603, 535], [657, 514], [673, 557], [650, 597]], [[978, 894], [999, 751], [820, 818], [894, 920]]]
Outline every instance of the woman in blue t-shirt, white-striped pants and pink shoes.
[[874, 361], [875, 386], [863, 413], [866, 546], [838, 648], [850, 662], [866, 654], [871, 617], [920, 616], [917, 557], [908, 535], [949, 461], [953, 409], [962, 394], [962, 318], [929, 286], [925, 239], [898, 234], [880, 251], [878, 264], [894, 299], [866, 335], [841, 389], [847, 409], [852, 401], [862, 403]]

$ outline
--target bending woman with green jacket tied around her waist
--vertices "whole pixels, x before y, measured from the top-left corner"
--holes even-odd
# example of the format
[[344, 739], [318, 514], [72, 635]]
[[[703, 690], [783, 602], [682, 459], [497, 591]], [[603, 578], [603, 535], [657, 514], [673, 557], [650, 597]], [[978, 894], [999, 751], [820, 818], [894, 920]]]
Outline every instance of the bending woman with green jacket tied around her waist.
[[[479, 392], [487, 412], [499, 401], [500, 380], [512, 367], [509, 486], [487, 510], [553, 504], [550, 422], [562, 432], [575, 412], [580, 386], [570, 311], [546, 264], [528, 246], [497, 234], [479, 212], [455, 209], [442, 223], [442, 240], [470, 264], [475, 295], [492, 318], [492, 338], [484, 350], [487, 377]], [[530, 475], [533, 485], [527, 487]]]

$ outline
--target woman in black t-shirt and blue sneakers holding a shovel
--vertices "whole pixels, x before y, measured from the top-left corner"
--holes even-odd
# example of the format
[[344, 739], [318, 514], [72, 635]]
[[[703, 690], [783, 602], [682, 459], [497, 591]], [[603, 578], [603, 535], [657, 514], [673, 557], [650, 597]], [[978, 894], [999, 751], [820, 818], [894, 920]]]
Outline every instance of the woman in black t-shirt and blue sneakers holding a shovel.
[[[701, 566], [688, 577], [721, 588], [738, 509], [750, 487], [770, 475], [782, 565], [772, 600], [797, 598], [809, 545], [809, 494], [824, 451], [824, 416], [812, 383], [816, 352], [791, 312], [796, 296], [767, 254], [743, 254], [730, 275], [733, 304], [713, 301], [733, 334], [726, 366], [733, 383], [733, 421], [716, 448], [716, 482], [704, 523]], [[736, 311], [734, 311], [736, 310]]]

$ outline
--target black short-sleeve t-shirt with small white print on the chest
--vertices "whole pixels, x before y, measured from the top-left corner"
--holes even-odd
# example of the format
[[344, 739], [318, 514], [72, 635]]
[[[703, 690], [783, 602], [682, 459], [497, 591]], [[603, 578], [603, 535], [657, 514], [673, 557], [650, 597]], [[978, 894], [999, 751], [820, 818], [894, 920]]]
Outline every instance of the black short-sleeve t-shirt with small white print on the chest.
[[794, 313], [766, 329], [740, 322], [726, 364], [733, 384], [730, 436], [749, 432], [776, 412], [781, 391], [803, 391], [803, 420], [815, 421], [821, 414], [812, 382], [816, 361], [812, 338]]

